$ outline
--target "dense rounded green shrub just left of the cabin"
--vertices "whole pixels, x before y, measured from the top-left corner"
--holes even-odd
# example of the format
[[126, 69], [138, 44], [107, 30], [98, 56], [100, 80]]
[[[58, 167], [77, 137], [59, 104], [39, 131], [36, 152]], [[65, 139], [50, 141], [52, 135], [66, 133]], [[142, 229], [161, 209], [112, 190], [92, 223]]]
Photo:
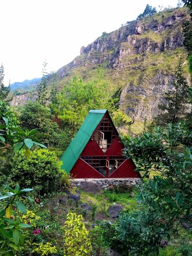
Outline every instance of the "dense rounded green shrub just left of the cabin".
[[61, 162], [48, 149], [32, 151], [26, 158], [23, 152], [16, 153], [12, 162], [12, 180], [22, 187], [42, 186], [41, 194], [56, 191], [61, 178]]

